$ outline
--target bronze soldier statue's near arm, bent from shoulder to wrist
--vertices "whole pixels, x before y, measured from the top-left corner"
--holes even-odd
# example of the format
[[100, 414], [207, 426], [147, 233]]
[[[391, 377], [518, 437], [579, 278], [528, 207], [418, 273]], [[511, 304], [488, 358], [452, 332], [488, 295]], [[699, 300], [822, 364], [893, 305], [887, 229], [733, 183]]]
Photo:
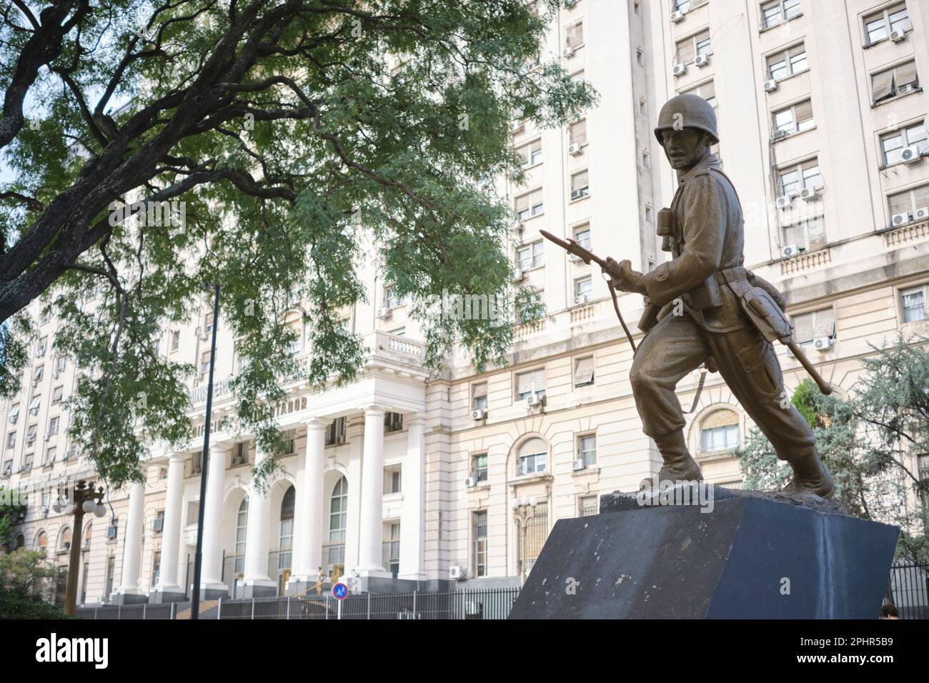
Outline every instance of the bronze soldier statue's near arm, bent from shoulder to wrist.
[[709, 175], [687, 181], [684, 202], [684, 254], [642, 276], [648, 298], [663, 306], [706, 281], [723, 257], [726, 197]]

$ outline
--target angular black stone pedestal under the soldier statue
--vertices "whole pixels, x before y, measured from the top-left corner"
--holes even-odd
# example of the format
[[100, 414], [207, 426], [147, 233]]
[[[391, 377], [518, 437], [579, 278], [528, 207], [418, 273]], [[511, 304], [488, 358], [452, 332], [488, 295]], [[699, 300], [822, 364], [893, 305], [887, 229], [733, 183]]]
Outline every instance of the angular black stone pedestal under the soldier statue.
[[558, 520], [509, 618], [877, 618], [896, 527], [715, 491]]

